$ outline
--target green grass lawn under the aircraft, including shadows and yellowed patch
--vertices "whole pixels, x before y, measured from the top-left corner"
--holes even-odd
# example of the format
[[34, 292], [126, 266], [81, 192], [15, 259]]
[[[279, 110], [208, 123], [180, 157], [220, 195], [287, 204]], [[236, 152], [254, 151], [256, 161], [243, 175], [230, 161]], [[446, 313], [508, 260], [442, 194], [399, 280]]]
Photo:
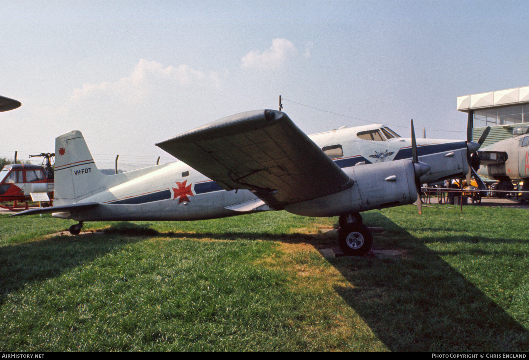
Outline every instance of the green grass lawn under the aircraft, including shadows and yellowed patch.
[[0, 215], [0, 350], [529, 350], [526, 210], [362, 213], [392, 258], [325, 259], [337, 218]]

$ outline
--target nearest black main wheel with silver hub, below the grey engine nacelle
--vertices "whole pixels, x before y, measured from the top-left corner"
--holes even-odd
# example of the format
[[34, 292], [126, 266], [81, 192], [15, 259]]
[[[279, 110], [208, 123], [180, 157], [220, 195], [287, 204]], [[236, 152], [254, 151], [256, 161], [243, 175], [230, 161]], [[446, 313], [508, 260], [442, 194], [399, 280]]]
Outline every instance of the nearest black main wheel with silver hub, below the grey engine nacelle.
[[366, 225], [345, 224], [338, 231], [338, 244], [345, 255], [363, 256], [371, 250], [373, 235]]

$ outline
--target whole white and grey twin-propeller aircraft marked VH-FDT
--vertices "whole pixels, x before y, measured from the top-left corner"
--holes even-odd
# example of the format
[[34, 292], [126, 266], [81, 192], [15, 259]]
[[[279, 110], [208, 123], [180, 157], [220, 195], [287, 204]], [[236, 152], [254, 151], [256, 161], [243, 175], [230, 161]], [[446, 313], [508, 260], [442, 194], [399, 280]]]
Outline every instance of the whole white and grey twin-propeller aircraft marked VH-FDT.
[[[364, 135], [382, 139], [372, 140], [381, 141], [374, 157], [362, 155], [362, 140], [369, 141]], [[181, 161], [103, 175], [80, 131], [61, 135], [54, 206], [11, 216], [53, 213], [79, 221], [70, 227], [78, 234], [85, 221], [203, 220], [286, 210], [340, 216], [341, 249], [363, 255], [372, 236], [359, 212], [411, 204], [423, 181], [464, 176], [468, 153], [479, 148], [448, 140], [417, 146], [413, 120], [409, 141], [384, 126], [308, 137], [284, 112], [273, 110], [239, 113], [156, 145]], [[420, 201], [417, 207], [420, 212]]]

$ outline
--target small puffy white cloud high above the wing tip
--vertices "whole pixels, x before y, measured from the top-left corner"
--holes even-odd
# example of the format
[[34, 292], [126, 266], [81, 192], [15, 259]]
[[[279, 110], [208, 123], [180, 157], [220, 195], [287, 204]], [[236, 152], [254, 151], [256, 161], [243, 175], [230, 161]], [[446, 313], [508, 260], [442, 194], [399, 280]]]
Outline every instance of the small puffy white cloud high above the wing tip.
[[250, 51], [242, 58], [243, 68], [277, 69], [297, 54], [296, 46], [287, 39], [273, 39], [269, 49]]

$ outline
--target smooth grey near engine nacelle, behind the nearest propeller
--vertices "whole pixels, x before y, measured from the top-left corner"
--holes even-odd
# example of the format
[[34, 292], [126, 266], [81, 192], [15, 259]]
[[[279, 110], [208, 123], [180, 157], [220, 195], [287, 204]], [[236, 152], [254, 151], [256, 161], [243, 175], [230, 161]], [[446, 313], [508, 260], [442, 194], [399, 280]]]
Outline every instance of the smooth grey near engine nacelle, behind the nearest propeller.
[[302, 216], [338, 216], [412, 204], [417, 200], [415, 171], [409, 159], [352, 166], [353, 186], [339, 193], [285, 206]]

